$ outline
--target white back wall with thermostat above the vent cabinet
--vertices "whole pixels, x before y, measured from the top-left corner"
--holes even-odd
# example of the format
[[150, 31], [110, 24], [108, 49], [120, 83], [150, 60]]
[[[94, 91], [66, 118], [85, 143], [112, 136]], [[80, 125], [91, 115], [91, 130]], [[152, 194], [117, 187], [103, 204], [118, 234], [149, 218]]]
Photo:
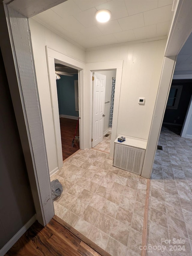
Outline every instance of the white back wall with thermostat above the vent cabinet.
[[86, 52], [86, 63], [123, 60], [117, 134], [148, 139], [165, 45], [164, 39]]

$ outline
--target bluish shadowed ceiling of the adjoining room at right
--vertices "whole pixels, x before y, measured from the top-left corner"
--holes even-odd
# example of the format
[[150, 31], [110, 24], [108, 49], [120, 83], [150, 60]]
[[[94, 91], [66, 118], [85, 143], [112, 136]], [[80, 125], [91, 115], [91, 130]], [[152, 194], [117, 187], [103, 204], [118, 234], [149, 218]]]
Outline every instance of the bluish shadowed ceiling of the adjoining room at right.
[[192, 74], [192, 33], [177, 56], [174, 74]]

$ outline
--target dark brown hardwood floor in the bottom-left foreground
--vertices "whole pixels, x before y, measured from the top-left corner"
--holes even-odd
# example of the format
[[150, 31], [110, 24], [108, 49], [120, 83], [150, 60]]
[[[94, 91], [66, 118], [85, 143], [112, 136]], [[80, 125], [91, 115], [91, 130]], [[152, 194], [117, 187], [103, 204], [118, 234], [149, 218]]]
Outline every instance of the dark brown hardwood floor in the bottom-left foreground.
[[45, 227], [35, 222], [5, 256], [101, 256], [52, 219]]

